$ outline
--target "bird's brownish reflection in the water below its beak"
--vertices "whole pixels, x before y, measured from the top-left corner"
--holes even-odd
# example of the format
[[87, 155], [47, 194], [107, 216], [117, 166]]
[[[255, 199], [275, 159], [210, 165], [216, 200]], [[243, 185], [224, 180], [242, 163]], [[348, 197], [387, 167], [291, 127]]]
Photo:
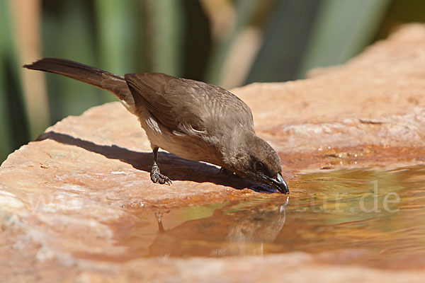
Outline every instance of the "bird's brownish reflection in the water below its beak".
[[156, 212], [159, 232], [149, 246], [149, 255], [263, 255], [264, 243], [272, 243], [285, 224], [288, 200], [231, 203], [212, 216], [168, 230], [162, 212]]

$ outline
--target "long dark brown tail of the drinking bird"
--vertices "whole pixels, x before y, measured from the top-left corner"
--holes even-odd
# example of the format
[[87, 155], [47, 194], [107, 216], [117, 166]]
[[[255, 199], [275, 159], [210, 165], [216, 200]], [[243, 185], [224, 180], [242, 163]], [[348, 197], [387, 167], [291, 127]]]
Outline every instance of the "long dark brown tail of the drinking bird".
[[130, 112], [135, 110], [135, 100], [123, 76], [60, 58], [43, 58], [31, 64], [23, 65], [23, 67], [61, 74], [97, 86], [113, 93]]

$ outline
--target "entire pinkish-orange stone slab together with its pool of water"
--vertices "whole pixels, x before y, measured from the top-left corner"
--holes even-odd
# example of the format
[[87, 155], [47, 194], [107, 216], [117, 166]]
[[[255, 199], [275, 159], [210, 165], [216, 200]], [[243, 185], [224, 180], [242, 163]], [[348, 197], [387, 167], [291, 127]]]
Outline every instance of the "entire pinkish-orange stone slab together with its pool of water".
[[232, 90], [289, 196], [164, 151], [173, 184], [153, 184], [119, 103], [65, 118], [0, 167], [1, 280], [423, 282], [424, 45], [407, 25], [308, 79]]

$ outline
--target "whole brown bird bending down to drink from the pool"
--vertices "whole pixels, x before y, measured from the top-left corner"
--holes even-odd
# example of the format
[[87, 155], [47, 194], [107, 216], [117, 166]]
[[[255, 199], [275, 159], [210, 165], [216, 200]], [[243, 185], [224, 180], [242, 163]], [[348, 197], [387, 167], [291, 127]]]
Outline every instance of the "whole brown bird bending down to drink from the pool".
[[157, 152], [162, 148], [289, 193], [280, 158], [257, 137], [248, 105], [224, 88], [160, 73], [123, 77], [59, 58], [23, 67], [68, 76], [113, 93], [145, 129], [153, 150], [154, 183], [171, 184], [159, 172]]

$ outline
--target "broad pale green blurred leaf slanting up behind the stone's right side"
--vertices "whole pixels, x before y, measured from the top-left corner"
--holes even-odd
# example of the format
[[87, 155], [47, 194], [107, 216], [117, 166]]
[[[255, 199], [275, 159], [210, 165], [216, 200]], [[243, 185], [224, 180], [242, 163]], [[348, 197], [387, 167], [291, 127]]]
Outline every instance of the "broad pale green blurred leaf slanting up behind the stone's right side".
[[298, 77], [315, 67], [342, 64], [370, 43], [390, 0], [325, 0]]

